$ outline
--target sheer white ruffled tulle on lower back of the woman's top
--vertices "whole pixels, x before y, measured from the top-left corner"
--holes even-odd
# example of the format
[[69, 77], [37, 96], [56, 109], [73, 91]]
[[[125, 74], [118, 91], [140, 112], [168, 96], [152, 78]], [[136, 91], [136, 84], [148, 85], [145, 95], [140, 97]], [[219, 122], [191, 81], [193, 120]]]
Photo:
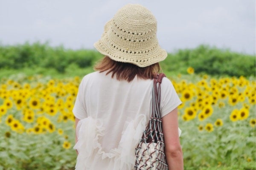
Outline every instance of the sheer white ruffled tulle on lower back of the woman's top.
[[105, 130], [103, 120], [92, 117], [80, 120], [76, 128], [78, 142], [73, 147], [79, 152], [76, 170], [131, 170], [135, 162], [135, 148], [145, 130], [145, 123], [146, 116], [142, 114], [126, 122], [119, 146], [106, 153], [99, 143]]

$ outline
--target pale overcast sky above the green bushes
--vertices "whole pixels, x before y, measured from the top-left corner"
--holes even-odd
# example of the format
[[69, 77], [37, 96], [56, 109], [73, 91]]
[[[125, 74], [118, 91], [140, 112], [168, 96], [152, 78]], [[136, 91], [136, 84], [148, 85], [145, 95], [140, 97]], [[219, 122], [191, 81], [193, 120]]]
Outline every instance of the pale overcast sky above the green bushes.
[[152, 11], [168, 52], [208, 44], [255, 54], [255, 0], [0, 0], [0, 43], [93, 49], [105, 23], [127, 3]]

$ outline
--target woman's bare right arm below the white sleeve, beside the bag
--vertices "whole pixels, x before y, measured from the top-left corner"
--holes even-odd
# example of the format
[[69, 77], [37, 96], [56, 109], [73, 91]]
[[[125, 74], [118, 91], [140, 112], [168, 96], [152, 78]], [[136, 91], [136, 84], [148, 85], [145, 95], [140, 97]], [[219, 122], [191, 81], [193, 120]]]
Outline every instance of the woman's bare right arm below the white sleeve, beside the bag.
[[169, 170], [183, 170], [183, 153], [178, 133], [177, 108], [163, 116], [163, 136]]

